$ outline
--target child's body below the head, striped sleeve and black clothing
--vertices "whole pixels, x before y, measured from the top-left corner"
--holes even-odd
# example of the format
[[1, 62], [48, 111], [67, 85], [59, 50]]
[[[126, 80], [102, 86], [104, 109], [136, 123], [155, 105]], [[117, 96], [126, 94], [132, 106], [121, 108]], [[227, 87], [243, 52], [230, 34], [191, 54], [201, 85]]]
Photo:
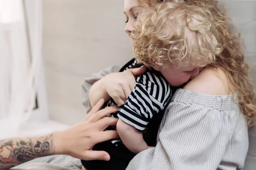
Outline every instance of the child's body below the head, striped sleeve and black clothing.
[[[135, 59], [132, 59], [120, 71], [141, 66]], [[161, 111], [164, 111], [169, 103], [174, 88], [154, 69], [147, 69], [144, 74], [136, 77], [136, 82], [126, 103], [119, 106], [116, 113], [110, 115], [119, 118], [116, 127], [106, 128], [106, 130], [117, 130], [122, 141], [116, 139], [96, 144], [93, 150], [107, 151], [111, 160], [82, 160], [81, 162], [87, 170], [124, 170], [135, 154], [148, 149], [149, 146], [143, 139], [143, 130], [153, 116], [163, 114]], [[106, 107], [111, 105], [116, 105], [113, 99], [106, 104]], [[154, 134], [156, 138], [157, 131]], [[155, 144], [152, 145], [155, 146]]]

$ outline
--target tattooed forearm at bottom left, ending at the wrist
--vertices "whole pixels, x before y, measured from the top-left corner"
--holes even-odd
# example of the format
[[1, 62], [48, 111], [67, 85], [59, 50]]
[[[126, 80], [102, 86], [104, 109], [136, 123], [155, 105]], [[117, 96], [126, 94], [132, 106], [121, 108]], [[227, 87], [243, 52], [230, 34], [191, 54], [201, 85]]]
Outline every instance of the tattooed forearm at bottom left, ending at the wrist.
[[53, 153], [52, 134], [35, 138], [0, 140], [0, 170]]

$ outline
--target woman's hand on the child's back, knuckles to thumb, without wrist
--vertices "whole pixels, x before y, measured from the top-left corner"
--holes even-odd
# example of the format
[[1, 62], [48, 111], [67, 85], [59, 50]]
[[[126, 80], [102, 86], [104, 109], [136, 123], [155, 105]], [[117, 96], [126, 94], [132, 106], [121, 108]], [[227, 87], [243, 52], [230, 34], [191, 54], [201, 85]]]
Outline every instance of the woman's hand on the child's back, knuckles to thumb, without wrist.
[[116, 102], [117, 105], [126, 103], [128, 96], [133, 91], [136, 80], [135, 76], [143, 74], [146, 67], [132, 68], [119, 73], [108, 74], [102, 78], [103, 87], [108, 95]]

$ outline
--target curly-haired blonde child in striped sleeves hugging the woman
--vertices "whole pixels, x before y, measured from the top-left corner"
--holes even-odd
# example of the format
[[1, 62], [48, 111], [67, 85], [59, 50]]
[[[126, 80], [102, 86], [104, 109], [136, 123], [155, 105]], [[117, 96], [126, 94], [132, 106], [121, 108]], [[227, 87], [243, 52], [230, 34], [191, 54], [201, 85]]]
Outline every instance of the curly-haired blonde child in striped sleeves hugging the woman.
[[[123, 170], [135, 154], [148, 149], [142, 132], [155, 115], [164, 111], [172, 90], [196, 77], [202, 66], [212, 62], [207, 59], [215, 58], [220, 51], [209, 12], [184, 5], [182, 0], [163, 3], [139, 17], [132, 35], [136, 60], [120, 70], [140, 67], [139, 63], [148, 67], [135, 78], [134, 90], [116, 113], [116, 129], [122, 141], [96, 144], [93, 150], [107, 151], [111, 160], [82, 161], [87, 170]], [[111, 100], [108, 106], [113, 104]]]

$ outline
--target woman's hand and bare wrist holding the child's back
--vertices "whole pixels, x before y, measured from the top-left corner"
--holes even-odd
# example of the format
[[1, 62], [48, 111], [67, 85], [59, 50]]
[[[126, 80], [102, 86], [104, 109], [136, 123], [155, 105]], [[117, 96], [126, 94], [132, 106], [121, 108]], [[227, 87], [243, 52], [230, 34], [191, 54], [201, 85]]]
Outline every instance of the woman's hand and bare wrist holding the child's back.
[[96, 82], [89, 94], [90, 104], [93, 107], [99, 99], [106, 101], [112, 98], [117, 105], [126, 102], [136, 85], [135, 76], [143, 74], [146, 67], [131, 68], [123, 72], [111, 73]]

